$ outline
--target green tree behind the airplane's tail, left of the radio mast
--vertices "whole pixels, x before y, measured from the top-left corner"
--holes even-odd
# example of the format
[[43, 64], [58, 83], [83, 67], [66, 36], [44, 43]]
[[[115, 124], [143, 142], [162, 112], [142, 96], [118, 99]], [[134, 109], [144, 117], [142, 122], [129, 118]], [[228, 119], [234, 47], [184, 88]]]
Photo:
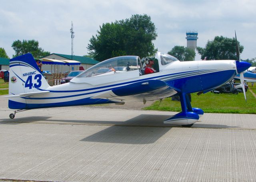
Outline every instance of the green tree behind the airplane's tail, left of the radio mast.
[[38, 41], [33, 40], [17, 40], [12, 43], [12, 48], [15, 51], [15, 55], [12, 57], [17, 57], [19, 55], [23, 55], [26, 53], [31, 53], [33, 57], [40, 58], [45, 57], [50, 54], [50, 52], [44, 51], [41, 47], [39, 47]]

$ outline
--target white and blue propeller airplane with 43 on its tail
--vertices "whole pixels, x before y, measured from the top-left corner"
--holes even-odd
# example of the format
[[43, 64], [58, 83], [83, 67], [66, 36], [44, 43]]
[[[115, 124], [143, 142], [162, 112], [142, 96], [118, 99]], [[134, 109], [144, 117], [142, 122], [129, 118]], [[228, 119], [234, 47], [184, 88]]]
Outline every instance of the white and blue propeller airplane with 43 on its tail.
[[[16, 112], [36, 108], [124, 104], [126, 100], [145, 103], [179, 95], [182, 112], [164, 123], [190, 127], [204, 112], [192, 108], [187, 94], [209, 92], [251, 66], [235, 60], [180, 62], [162, 53], [157, 53], [155, 58], [159, 70], [152, 74], [143, 74], [140, 57], [122, 56], [102, 61], [57, 86], [49, 86], [30, 53], [10, 59], [9, 96], [6, 97], [9, 108], [15, 110], [10, 118]], [[108, 65], [122, 69], [106, 72]]]

